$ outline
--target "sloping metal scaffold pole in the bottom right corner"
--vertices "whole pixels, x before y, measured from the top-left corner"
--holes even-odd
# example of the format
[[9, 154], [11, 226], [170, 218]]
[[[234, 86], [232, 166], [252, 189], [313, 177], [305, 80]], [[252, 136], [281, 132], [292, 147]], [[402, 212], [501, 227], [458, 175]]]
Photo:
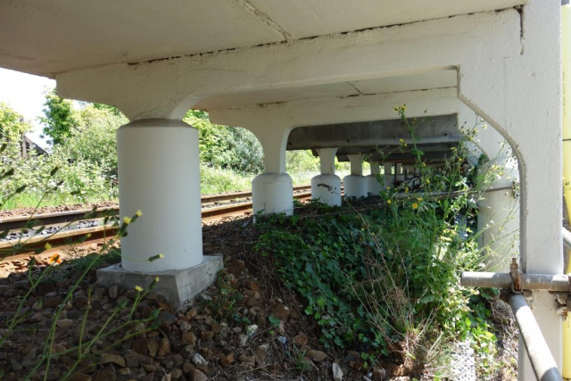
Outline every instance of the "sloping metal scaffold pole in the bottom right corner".
[[561, 381], [561, 373], [550, 347], [543, 338], [542, 331], [535, 321], [534, 313], [527, 305], [523, 294], [509, 296], [511, 311], [516, 317], [519, 333], [525, 344], [525, 350], [534, 368], [535, 377], [540, 381]]

